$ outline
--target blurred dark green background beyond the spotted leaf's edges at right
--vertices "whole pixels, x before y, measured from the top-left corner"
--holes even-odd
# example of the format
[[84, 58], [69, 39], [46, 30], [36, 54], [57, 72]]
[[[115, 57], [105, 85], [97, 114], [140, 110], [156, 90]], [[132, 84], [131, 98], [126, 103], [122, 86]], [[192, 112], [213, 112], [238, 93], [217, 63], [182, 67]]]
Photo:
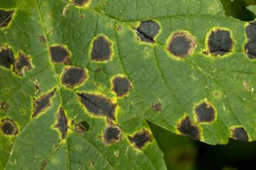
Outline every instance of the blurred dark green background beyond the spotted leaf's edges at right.
[[[212, 1], [212, 0], [209, 0]], [[256, 0], [220, 0], [227, 16], [243, 21], [255, 19], [246, 7]], [[150, 124], [157, 144], [164, 152], [168, 169], [175, 170], [247, 170], [256, 169], [256, 141], [242, 142], [230, 139], [228, 145], [206, 145], [192, 138], [173, 134]], [[253, 165], [253, 166], [251, 166]]]

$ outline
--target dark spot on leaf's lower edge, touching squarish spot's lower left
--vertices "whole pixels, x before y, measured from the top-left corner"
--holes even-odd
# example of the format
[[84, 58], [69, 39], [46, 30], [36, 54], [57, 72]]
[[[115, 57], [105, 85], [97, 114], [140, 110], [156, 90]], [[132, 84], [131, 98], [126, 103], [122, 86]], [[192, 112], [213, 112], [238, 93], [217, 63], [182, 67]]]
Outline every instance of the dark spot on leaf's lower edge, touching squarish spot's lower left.
[[199, 128], [195, 126], [195, 124], [192, 123], [192, 121], [189, 119], [189, 117], [185, 117], [179, 124], [178, 124], [178, 131], [180, 131], [182, 134], [188, 135], [192, 137], [193, 139], [199, 139], [200, 138], [200, 131]]

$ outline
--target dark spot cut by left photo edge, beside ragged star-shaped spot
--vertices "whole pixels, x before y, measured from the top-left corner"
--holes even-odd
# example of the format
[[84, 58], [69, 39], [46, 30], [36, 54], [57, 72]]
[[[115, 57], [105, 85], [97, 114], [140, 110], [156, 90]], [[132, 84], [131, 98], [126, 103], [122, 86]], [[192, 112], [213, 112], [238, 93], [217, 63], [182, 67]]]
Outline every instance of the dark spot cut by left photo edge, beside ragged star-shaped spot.
[[9, 49], [9, 47], [6, 46], [0, 48], [0, 66], [9, 69], [14, 62], [15, 59], [12, 49]]

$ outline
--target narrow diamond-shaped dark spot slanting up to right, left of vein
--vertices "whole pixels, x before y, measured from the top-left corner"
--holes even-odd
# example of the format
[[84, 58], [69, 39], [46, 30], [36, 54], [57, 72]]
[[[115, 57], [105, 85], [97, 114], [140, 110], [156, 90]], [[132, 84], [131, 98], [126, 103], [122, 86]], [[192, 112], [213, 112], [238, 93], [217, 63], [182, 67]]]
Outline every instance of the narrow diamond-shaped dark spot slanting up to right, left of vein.
[[54, 96], [56, 89], [52, 90], [50, 93], [43, 94], [37, 99], [33, 99], [33, 115], [32, 117], [37, 116], [44, 110], [47, 110], [50, 107], [50, 99]]

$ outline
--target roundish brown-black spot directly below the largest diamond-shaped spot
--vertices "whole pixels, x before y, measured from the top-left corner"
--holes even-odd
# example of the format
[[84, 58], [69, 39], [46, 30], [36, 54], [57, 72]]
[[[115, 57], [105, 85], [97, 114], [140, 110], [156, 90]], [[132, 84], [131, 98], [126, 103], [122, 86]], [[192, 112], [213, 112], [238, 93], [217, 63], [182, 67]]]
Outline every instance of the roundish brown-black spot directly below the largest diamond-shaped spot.
[[121, 139], [121, 129], [117, 126], [109, 126], [104, 131], [103, 138], [106, 144], [118, 142]]

